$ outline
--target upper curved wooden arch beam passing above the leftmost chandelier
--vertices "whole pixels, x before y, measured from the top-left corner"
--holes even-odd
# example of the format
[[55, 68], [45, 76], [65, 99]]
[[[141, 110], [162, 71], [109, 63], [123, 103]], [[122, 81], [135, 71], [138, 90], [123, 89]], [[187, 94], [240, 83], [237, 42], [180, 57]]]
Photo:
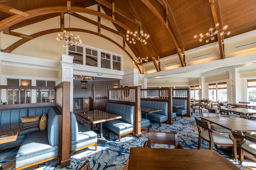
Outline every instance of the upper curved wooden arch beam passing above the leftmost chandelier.
[[[72, 6], [71, 9], [72, 9], [72, 12], [81, 12], [81, 13], [85, 13], [85, 14], [99, 16], [106, 20], [112, 21], [113, 23], [116, 23], [117, 25], [119, 25], [120, 27], [122, 27], [126, 30], [132, 30], [128, 26], [126, 26], [124, 23], [122, 23], [118, 20], [112, 20], [112, 17], [110, 17], [106, 14], [103, 14], [101, 12], [98, 12], [95, 10], [90, 10], [87, 8], [76, 7], [76, 6]], [[29, 14], [29, 16], [27, 16], [27, 17], [23, 17], [20, 15], [10, 16], [9, 18], [6, 18], [6, 19], [0, 21], [0, 32], [3, 31], [4, 29], [6, 29], [20, 21], [24, 21], [28, 18], [33, 18], [35, 16], [51, 14], [51, 13], [56, 13], [56, 12], [66, 12], [66, 6], [53, 6], [53, 7], [44, 7], [44, 8], [37, 8], [37, 9], [29, 10], [29, 11], [26, 11], [26, 13]]]

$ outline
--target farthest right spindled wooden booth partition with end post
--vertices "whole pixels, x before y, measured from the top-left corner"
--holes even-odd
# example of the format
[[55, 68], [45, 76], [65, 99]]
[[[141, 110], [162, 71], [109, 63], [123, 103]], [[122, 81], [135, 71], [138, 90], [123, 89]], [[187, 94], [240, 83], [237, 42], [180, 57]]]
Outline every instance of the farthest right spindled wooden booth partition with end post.
[[189, 88], [180, 88], [172, 89], [172, 98], [181, 99], [187, 101], [187, 117], [191, 117], [190, 114], [190, 89]]

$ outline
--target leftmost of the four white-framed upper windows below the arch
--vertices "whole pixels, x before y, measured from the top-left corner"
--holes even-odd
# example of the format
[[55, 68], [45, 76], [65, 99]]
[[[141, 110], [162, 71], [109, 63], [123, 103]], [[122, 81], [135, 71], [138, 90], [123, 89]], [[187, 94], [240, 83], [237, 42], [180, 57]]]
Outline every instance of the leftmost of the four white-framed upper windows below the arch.
[[73, 63], [83, 64], [83, 47], [78, 45], [68, 47], [68, 55], [74, 57]]

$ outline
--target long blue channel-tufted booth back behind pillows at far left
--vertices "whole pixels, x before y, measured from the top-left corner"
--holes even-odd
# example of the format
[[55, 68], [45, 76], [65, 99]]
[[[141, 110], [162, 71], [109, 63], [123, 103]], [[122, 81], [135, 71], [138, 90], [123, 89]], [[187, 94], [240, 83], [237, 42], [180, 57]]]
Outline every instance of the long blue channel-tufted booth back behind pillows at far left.
[[40, 114], [41, 118], [44, 113], [48, 115], [50, 108], [51, 107], [34, 107], [0, 110], [0, 125], [20, 123], [20, 117], [35, 116]]

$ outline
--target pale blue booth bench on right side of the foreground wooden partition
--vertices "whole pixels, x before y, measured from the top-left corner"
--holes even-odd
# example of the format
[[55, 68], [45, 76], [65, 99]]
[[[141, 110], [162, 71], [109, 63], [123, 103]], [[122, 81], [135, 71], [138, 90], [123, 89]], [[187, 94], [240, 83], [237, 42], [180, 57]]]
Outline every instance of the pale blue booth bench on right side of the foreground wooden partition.
[[76, 120], [74, 113], [71, 117], [71, 152], [81, 150], [95, 145], [97, 150], [97, 134], [88, 127]]

